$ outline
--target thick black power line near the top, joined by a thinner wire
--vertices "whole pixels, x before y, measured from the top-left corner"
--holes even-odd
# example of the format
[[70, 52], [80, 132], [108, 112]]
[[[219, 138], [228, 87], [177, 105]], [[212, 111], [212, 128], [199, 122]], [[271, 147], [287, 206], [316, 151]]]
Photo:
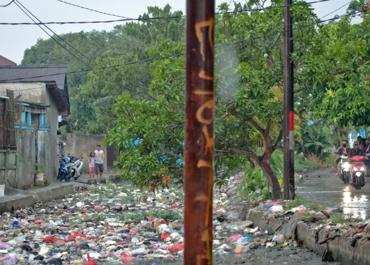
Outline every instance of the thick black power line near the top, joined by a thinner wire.
[[[326, 2], [326, 1], [332, 1], [332, 0], [316, 0], [316, 1], [311, 1], [311, 2], [303, 2], [303, 3], [294, 3], [294, 5], [309, 5], [312, 3], [319, 3], [319, 2]], [[66, 2], [67, 3], [67, 2]], [[290, 5], [291, 6], [291, 5]], [[81, 7], [81, 6], [78, 6]], [[269, 9], [277, 9], [277, 8], [284, 8], [285, 5], [279, 5], [279, 6], [268, 6], [265, 8], [256, 8], [256, 9], [245, 9], [245, 10], [236, 10], [236, 11], [228, 11], [228, 12], [219, 12], [216, 13], [218, 15], [222, 14], [230, 14], [230, 13], [242, 13], [242, 12], [253, 12], [253, 11], [265, 11]], [[81, 7], [85, 8], [85, 7]], [[93, 10], [90, 8], [85, 8], [88, 10]], [[96, 11], [96, 10], [93, 10]], [[100, 12], [100, 11], [98, 11]], [[107, 13], [108, 14], [108, 13]], [[117, 16], [117, 15], [114, 15]], [[27, 22], [21, 22], [21, 23], [0, 23], [0, 25], [38, 25], [38, 24], [58, 24], [58, 25], [64, 25], [64, 24], [95, 24], [95, 23], [112, 23], [112, 22], [124, 22], [124, 21], [146, 21], [146, 20], [153, 20], [153, 19], [172, 19], [172, 18], [182, 18], [186, 17], [185, 15], [181, 16], [169, 16], [169, 17], [149, 17], [149, 18], [124, 18], [124, 19], [116, 19], [116, 20], [105, 20], [105, 21], [69, 21], [69, 22], [44, 22], [44, 23], [27, 23]]]

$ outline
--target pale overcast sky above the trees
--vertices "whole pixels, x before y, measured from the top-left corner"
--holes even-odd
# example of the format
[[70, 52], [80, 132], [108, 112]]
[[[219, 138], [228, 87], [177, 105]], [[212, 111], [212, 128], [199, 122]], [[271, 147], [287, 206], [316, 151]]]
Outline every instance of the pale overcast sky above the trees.
[[[172, 11], [183, 10], [185, 13], [185, 0], [66, 0], [77, 5], [91, 9], [116, 14], [120, 16], [137, 18], [140, 14], [147, 12], [147, 6], [158, 6], [163, 8], [167, 3], [172, 7]], [[219, 5], [230, 0], [216, 0]], [[312, 0], [307, 0], [312, 1]], [[349, 0], [331, 0], [315, 3], [315, 11], [318, 17], [322, 17]], [[0, 0], [0, 5], [5, 5], [10, 0]], [[115, 20], [119, 19], [110, 15], [99, 14], [93, 11], [74, 7], [57, 0], [19, 0], [28, 10], [30, 10], [42, 22], [60, 21], [93, 21], [93, 20]], [[243, 3], [244, 1], [241, 0]], [[332, 18], [335, 14], [342, 15], [346, 7], [334, 12], [325, 19]], [[356, 21], [356, 20], [355, 20]], [[0, 22], [32, 22], [14, 3], [7, 7], [0, 7]], [[106, 30], [110, 31], [115, 25], [121, 23], [101, 23], [101, 24], [67, 24], [67, 25], [48, 25], [57, 34]], [[37, 39], [47, 39], [48, 36], [38, 26], [35, 25], [0, 25], [0, 55], [21, 63], [26, 48], [36, 44]]]

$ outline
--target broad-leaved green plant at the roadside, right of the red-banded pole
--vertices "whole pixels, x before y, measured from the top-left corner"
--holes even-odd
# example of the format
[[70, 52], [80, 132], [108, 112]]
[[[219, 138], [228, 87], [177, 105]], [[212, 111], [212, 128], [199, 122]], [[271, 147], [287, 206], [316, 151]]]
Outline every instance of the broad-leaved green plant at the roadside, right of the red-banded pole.
[[321, 159], [330, 155], [324, 152], [326, 148], [333, 147], [333, 140], [330, 130], [322, 126], [307, 126], [301, 128], [302, 141], [296, 142], [296, 152], [302, 153], [304, 157], [316, 156]]

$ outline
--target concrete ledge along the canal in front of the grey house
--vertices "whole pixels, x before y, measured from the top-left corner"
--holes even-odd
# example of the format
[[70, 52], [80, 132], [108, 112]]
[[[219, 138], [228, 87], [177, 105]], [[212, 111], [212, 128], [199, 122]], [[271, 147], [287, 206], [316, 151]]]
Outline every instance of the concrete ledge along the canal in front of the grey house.
[[22, 194], [0, 197], [0, 214], [33, 206], [37, 202], [62, 199], [74, 192], [72, 183], [58, 183], [46, 187], [24, 190]]

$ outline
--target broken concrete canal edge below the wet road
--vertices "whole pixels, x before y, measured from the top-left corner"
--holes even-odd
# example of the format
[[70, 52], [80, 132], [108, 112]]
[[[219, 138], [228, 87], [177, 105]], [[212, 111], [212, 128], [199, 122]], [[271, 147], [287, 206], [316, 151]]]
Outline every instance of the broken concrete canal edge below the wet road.
[[[254, 209], [249, 211], [247, 220], [253, 221], [254, 227], [258, 226], [262, 231], [267, 230], [269, 234], [278, 234], [279, 232], [283, 233], [288, 222], [288, 219], [276, 219], [273, 216], [268, 216], [267, 214]], [[319, 245], [316, 243], [315, 226], [316, 225], [310, 226], [306, 223], [297, 224], [296, 240], [305, 241], [307, 248], [322, 255], [326, 250], [327, 245]], [[320, 230], [318, 232], [317, 242], [321, 242], [334, 235], [335, 234], [332, 232]], [[370, 265], [370, 241], [367, 239], [358, 239], [355, 247], [352, 247], [351, 239], [344, 235], [340, 235], [327, 244], [336, 262], [340, 262], [345, 265]]]

